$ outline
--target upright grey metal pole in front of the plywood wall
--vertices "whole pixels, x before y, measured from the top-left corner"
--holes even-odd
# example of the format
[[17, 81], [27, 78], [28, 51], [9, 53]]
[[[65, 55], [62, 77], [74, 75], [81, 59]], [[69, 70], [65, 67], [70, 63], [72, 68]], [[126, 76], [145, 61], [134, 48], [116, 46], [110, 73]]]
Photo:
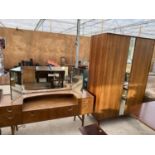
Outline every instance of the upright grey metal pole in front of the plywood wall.
[[76, 62], [75, 68], [78, 68], [79, 63], [79, 49], [80, 49], [80, 19], [77, 20], [77, 35], [76, 35]]

